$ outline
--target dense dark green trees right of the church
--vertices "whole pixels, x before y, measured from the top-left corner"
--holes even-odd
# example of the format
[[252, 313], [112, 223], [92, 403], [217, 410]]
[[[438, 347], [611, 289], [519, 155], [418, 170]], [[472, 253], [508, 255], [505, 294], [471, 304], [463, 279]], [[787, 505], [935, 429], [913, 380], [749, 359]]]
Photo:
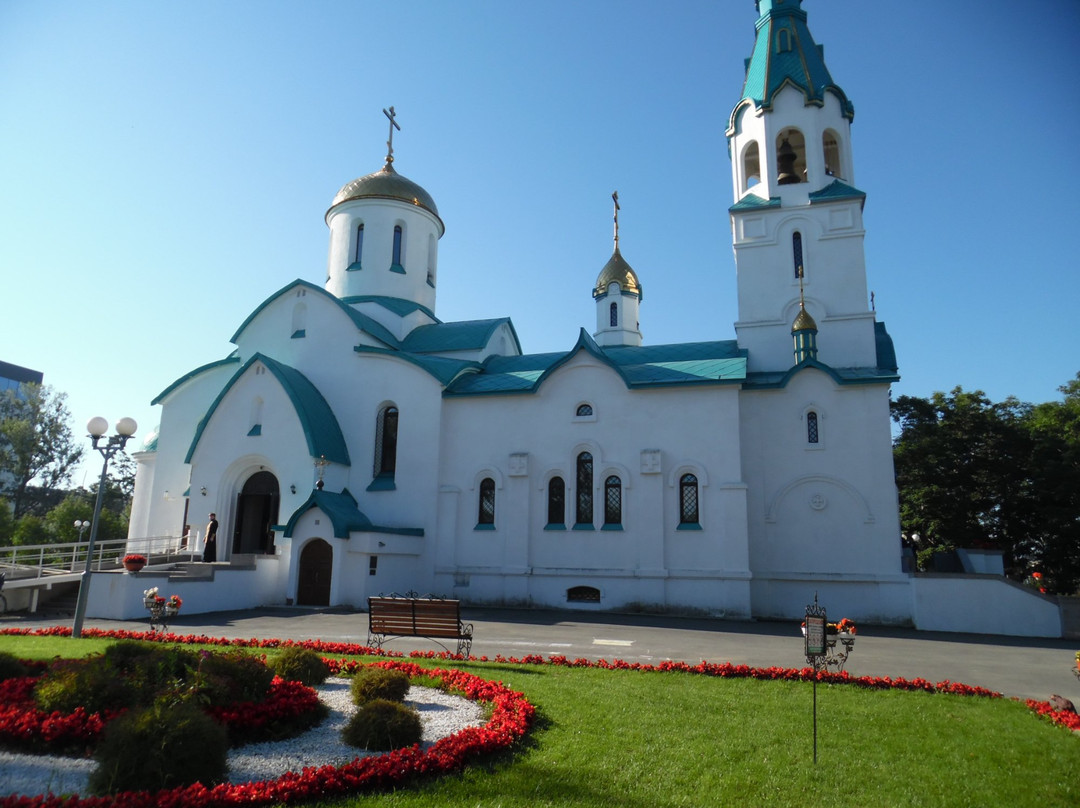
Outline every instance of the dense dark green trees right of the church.
[[939, 550], [993, 548], [1005, 573], [1080, 585], [1080, 375], [1062, 402], [990, 402], [961, 388], [892, 404], [901, 526], [920, 567]]

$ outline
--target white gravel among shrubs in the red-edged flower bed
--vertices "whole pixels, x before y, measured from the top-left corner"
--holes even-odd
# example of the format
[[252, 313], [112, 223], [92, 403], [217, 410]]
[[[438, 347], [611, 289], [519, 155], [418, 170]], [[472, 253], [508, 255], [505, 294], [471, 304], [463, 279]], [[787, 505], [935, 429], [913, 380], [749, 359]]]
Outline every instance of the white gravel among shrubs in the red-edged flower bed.
[[[341, 741], [341, 729], [355, 712], [349, 679], [329, 678], [316, 688], [329, 715], [314, 729], [287, 741], [249, 743], [229, 750], [229, 781], [245, 783], [273, 780], [306, 766], [340, 766], [368, 754]], [[406, 701], [420, 712], [423, 743], [429, 745], [465, 727], [484, 724], [480, 704], [429, 687], [410, 687]], [[81, 794], [94, 770], [86, 758], [22, 755], [0, 752], [0, 795]]]

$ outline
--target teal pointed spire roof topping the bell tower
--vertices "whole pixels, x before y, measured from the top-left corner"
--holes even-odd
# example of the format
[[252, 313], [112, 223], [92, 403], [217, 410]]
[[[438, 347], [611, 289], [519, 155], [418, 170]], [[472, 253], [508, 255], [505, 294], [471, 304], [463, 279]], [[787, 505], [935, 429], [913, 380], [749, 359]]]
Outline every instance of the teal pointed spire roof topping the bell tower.
[[787, 84], [799, 90], [807, 104], [816, 106], [823, 105], [825, 93], [831, 92], [840, 102], [845, 117], [855, 117], [854, 106], [825, 67], [824, 49], [810, 36], [801, 4], [802, 0], [760, 0], [754, 52], [746, 59], [746, 79], [741, 100], [731, 115], [729, 133], [744, 102], [771, 109], [777, 93]]

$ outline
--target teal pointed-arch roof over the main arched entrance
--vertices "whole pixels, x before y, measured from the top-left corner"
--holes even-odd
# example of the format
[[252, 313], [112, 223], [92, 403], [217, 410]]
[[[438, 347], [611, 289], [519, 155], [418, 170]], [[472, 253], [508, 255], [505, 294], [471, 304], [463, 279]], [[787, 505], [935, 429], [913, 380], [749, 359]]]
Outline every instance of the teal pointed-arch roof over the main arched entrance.
[[269, 356], [264, 356], [261, 353], [256, 353], [252, 356], [244, 365], [233, 374], [229, 382], [221, 389], [221, 392], [217, 394], [214, 403], [211, 404], [210, 409], [206, 410], [206, 415], [202, 417], [199, 421], [199, 427], [195, 429], [195, 436], [191, 441], [191, 447], [188, 449], [187, 457], [184, 458], [184, 462], [191, 462], [191, 458], [194, 455], [195, 447], [199, 445], [199, 441], [202, 439], [203, 432], [206, 429], [206, 425], [210, 423], [211, 418], [214, 417], [214, 413], [217, 410], [218, 405], [225, 399], [225, 396], [232, 389], [232, 386], [240, 380], [240, 378], [247, 372], [253, 364], [256, 362], [261, 362], [267, 366], [267, 369], [273, 374], [274, 378], [278, 379], [282, 389], [288, 395], [289, 401], [293, 403], [293, 408], [296, 412], [297, 418], [300, 420], [300, 426], [303, 429], [303, 435], [308, 441], [308, 452], [312, 457], [325, 457], [327, 460], [336, 463], [341, 463], [342, 466], [349, 466], [349, 448], [345, 443], [345, 435], [341, 433], [341, 427], [338, 425], [337, 418], [334, 415], [334, 410], [330, 409], [329, 404], [326, 403], [326, 399], [323, 394], [319, 392], [319, 389], [308, 380], [308, 377], [294, 367], [284, 365], [281, 362], [270, 359]]

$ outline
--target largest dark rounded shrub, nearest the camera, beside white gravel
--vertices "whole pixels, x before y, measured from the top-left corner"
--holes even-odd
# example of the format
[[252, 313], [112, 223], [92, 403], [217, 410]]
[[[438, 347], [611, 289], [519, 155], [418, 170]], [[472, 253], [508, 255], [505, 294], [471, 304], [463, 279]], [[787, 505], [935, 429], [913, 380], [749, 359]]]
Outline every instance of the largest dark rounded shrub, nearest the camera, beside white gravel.
[[224, 782], [229, 742], [225, 727], [198, 704], [159, 700], [111, 722], [94, 753], [94, 794], [159, 791]]

